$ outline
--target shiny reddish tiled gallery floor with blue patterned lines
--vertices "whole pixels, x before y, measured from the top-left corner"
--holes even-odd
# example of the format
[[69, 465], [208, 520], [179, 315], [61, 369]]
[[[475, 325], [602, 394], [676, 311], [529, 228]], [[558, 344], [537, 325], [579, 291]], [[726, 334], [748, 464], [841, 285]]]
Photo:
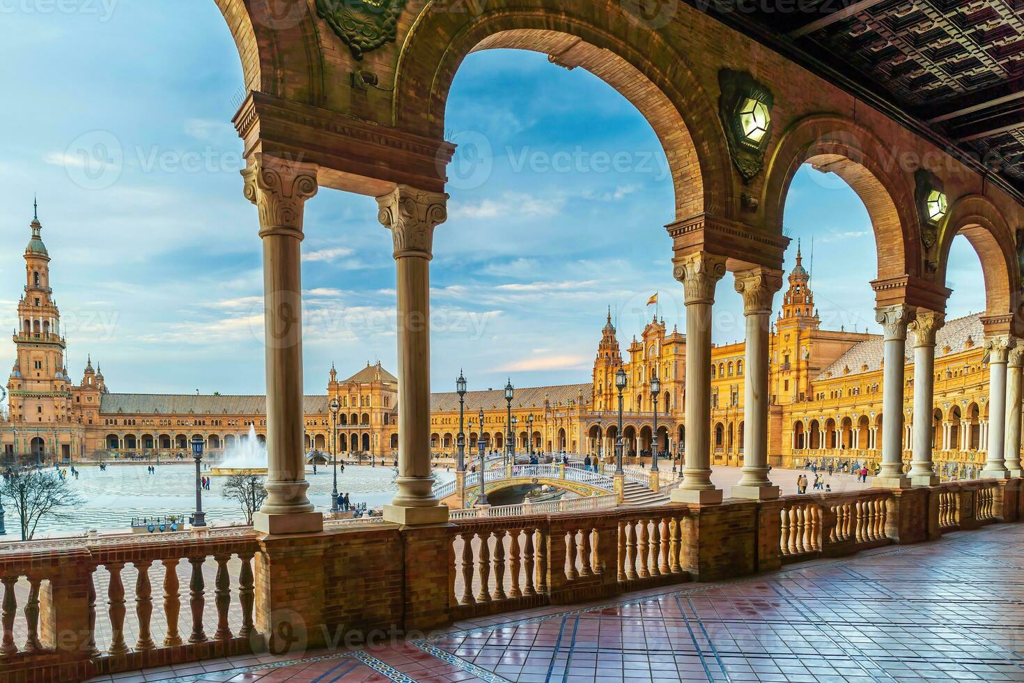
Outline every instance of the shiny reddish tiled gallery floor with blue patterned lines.
[[1008, 524], [366, 650], [234, 658], [144, 680], [1024, 681], [1022, 570], [1024, 526]]

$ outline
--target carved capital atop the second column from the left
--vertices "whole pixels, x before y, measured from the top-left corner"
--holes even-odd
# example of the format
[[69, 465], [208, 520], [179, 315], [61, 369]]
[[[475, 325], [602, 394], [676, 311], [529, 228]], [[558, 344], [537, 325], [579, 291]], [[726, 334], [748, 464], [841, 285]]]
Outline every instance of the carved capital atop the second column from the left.
[[447, 220], [447, 197], [443, 193], [398, 185], [377, 198], [380, 207], [377, 219], [391, 230], [395, 258], [432, 256], [434, 228]]

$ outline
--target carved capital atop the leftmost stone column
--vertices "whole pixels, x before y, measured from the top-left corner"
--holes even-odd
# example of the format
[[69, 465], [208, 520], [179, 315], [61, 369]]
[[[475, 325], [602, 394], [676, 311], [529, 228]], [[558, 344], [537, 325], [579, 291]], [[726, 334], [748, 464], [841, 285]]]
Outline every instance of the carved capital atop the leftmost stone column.
[[260, 237], [302, 237], [306, 200], [316, 194], [315, 164], [288, 161], [257, 152], [242, 171], [245, 196], [259, 209]]

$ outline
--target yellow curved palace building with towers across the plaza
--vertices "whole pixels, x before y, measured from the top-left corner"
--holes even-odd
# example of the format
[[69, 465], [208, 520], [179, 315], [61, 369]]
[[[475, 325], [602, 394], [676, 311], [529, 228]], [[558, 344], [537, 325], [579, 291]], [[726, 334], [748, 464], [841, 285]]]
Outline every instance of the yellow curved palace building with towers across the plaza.
[[[42, 225], [30, 224], [26, 285], [14, 331], [16, 357], [7, 382], [8, 411], [0, 425], [6, 460], [94, 460], [112, 457], [186, 457], [199, 435], [212, 458], [255, 432], [265, 440], [265, 400], [256, 395], [132, 394], [109, 390], [88, 359], [79, 382], [65, 362], [67, 340], [49, 286], [49, 253]], [[881, 460], [882, 339], [822, 330], [810, 275], [797, 261], [769, 337], [769, 456], [776, 466], [806, 461]], [[935, 364], [935, 461], [958, 475], [980, 469], [987, 443], [988, 374], [978, 315], [948, 322], [938, 335]], [[744, 344], [712, 352], [712, 463], [739, 466], [743, 442]], [[580, 384], [469, 391], [463, 398], [467, 454], [506, 449], [566, 452], [610, 461], [618, 433], [622, 369], [623, 437], [627, 459], [649, 457], [654, 434], [657, 377], [658, 450], [683, 457], [686, 337], [653, 317], [623, 352], [610, 311], [601, 330], [591, 380]], [[909, 463], [913, 366], [905, 365], [904, 459]], [[454, 382], [453, 382], [454, 383]], [[330, 405], [337, 398], [339, 409]], [[305, 397], [305, 447], [346, 459], [397, 457], [398, 379], [380, 362], [346, 379], [331, 368], [326, 392]], [[430, 449], [435, 458], [457, 453], [460, 397], [431, 397]], [[481, 423], [482, 416], [482, 423]], [[511, 417], [511, 422], [509, 418]], [[332, 420], [334, 418], [334, 420]], [[335, 425], [332, 426], [332, 422]], [[511, 427], [510, 427], [511, 425]]]

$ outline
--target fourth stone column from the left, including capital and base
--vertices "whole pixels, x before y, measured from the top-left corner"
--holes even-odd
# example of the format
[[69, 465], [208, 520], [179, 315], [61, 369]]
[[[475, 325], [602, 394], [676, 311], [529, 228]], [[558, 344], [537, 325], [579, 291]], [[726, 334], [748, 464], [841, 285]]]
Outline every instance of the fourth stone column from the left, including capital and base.
[[778, 498], [778, 486], [768, 479], [768, 326], [772, 299], [782, 287], [782, 273], [753, 268], [735, 273], [736, 291], [743, 295], [746, 318], [743, 373], [743, 475], [732, 487], [733, 498]]

